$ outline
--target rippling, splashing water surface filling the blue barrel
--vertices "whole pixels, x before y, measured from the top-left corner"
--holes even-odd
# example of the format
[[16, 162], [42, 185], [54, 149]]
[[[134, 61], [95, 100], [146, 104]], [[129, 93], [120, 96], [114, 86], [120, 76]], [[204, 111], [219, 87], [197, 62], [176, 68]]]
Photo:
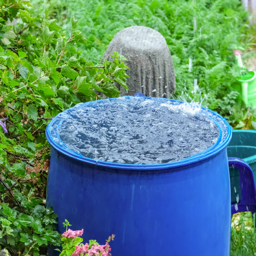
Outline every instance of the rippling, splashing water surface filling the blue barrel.
[[50, 127], [67, 151], [110, 162], [158, 164], [186, 159], [213, 146], [223, 120], [197, 103], [119, 97], [80, 103]]

